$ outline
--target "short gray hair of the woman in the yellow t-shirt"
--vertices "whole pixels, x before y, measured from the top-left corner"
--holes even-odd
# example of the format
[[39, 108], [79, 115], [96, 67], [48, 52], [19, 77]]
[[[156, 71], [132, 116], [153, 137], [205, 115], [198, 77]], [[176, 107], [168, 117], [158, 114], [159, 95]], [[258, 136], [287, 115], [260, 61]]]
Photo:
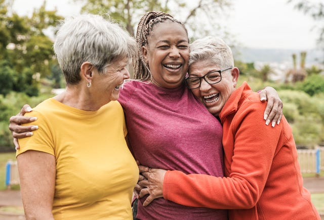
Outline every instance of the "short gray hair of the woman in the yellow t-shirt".
[[84, 62], [90, 62], [99, 73], [104, 73], [113, 61], [136, 58], [137, 44], [118, 24], [89, 14], [61, 22], [54, 51], [66, 83], [77, 84]]

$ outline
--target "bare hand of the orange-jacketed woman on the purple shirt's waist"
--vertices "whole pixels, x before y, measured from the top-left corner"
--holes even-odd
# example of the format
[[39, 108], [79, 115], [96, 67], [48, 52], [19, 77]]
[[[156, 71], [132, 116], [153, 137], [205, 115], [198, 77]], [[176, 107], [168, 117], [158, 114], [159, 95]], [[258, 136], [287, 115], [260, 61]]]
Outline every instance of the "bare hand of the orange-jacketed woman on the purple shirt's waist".
[[142, 175], [146, 178], [140, 181], [138, 184], [142, 187], [139, 196], [142, 198], [146, 194], [149, 196], [143, 202], [143, 206], [147, 206], [154, 199], [163, 197], [163, 180], [166, 174], [166, 170], [153, 169], [145, 166], [138, 166]]

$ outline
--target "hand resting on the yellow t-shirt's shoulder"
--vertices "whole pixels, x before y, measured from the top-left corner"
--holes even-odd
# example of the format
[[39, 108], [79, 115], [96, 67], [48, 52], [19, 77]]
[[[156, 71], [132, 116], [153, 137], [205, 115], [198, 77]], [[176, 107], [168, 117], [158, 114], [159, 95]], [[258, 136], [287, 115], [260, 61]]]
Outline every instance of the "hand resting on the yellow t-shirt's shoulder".
[[25, 113], [29, 113], [31, 111], [32, 111], [32, 108], [28, 104], [25, 104], [21, 108], [19, 114], [17, 114], [16, 116], [12, 116], [9, 119], [9, 122], [10, 122], [9, 129], [12, 131], [13, 142], [14, 142], [16, 149], [19, 149], [19, 144], [18, 144], [17, 138], [24, 138], [24, 137], [32, 136], [33, 135], [32, 131], [38, 129], [37, 125], [21, 126], [21, 124], [34, 122], [37, 120], [36, 117], [25, 117], [24, 116]]

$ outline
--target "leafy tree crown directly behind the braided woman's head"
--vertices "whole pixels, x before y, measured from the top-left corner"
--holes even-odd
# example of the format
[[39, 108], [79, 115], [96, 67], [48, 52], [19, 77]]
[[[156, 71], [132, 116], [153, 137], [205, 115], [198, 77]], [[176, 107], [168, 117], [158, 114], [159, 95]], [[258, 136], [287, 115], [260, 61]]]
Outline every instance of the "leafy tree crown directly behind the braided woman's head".
[[[183, 22], [191, 40], [206, 35], [218, 35], [227, 42], [234, 41], [222, 25], [219, 18], [224, 15], [224, 8], [230, 7], [229, 0], [74, 0], [82, 3], [82, 12], [93, 14], [107, 13], [114, 20], [126, 27], [134, 36], [140, 17], [148, 11], [164, 11]], [[197, 19], [199, 18], [199, 19]]]

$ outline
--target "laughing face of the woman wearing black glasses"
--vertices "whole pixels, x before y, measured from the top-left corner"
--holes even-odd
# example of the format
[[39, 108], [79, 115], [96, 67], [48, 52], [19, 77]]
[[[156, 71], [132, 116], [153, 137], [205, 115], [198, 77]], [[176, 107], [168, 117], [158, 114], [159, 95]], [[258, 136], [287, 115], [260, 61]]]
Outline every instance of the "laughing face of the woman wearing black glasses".
[[[227, 69], [223, 68], [223, 69]], [[201, 77], [205, 74], [221, 70], [220, 67], [211, 61], [197, 61], [189, 67], [189, 77]], [[235, 90], [239, 71], [236, 67], [221, 73], [222, 80], [216, 84], [208, 84], [201, 80], [199, 88], [192, 89], [192, 93], [207, 107], [214, 116], [218, 116], [224, 107], [227, 99]]]

